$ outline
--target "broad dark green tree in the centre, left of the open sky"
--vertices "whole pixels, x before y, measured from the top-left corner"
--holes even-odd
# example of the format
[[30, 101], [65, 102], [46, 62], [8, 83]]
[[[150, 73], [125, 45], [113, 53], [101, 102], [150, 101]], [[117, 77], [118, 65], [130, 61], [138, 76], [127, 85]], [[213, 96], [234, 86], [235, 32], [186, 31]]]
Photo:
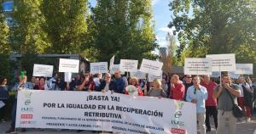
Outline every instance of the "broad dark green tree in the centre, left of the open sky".
[[91, 10], [98, 60], [156, 58], [151, 0], [97, 0]]

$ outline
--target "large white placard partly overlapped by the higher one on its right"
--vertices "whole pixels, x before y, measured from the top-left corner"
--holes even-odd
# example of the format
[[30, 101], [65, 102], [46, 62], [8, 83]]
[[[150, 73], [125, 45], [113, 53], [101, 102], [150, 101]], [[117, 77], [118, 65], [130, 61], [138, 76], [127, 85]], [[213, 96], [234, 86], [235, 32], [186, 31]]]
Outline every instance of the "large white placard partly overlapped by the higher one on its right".
[[212, 75], [212, 59], [185, 59], [184, 75]]

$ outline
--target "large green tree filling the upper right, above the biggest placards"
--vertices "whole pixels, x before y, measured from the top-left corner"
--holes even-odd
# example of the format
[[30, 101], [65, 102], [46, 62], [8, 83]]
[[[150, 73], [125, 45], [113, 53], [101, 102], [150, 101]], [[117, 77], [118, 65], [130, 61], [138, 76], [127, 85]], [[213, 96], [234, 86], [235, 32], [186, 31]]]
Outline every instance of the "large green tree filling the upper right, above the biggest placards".
[[[238, 63], [256, 61], [256, 1], [174, 0], [169, 6], [180, 47], [177, 56], [236, 53]], [[189, 14], [193, 10], [193, 14]]]

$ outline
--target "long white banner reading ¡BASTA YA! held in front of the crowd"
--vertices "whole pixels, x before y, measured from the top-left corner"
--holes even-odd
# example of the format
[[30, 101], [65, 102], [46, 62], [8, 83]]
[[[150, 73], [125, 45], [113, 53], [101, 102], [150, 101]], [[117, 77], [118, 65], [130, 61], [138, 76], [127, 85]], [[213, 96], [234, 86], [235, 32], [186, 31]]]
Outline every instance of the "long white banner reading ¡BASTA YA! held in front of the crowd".
[[195, 104], [117, 93], [21, 90], [16, 127], [195, 134]]

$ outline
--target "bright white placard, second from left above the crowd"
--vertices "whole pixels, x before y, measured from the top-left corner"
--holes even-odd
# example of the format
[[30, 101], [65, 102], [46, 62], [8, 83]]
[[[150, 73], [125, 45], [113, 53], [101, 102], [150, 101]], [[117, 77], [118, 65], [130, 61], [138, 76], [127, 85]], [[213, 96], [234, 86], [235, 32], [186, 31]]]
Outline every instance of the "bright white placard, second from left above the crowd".
[[59, 72], [79, 73], [79, 60], [60, 59]]

